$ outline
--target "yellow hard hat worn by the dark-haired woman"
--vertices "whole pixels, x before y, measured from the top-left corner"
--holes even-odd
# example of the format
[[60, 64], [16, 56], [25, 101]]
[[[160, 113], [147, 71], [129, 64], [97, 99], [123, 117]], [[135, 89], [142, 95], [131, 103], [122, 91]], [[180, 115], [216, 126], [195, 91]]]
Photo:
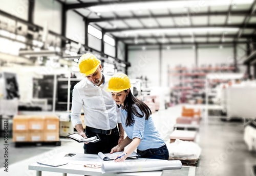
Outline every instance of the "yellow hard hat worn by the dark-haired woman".
[[131, 88], [131, 83], [129, 78], [124, 73], [114, 74], [110, 81], [109, 87], [106, 89], [107, 92], [121, 92], [123, 90]]

